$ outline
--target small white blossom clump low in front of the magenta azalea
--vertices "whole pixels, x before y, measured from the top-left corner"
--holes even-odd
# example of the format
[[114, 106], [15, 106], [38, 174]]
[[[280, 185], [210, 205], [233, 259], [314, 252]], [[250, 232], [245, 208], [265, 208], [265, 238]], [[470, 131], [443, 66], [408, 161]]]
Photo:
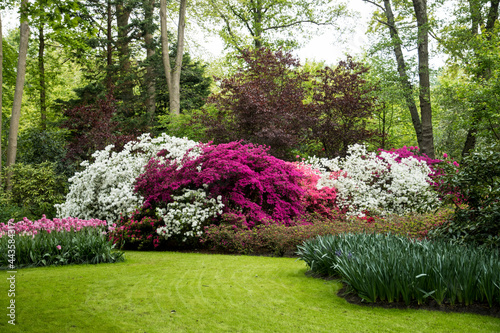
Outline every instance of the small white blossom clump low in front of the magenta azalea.
[[203, 226], [211, 218], [222, 214], [222, 197], [217, 200], [208, 199], [204, 189], [184, 189], [183, 194], [173, 196], [174, 201], [167, 204], [167, 208], [157, 208], [156, 214], [165, 222], [164, 227], [156, 229], [156, 232], [169, 238], [173, 235], [182, 234], [183, 241], [187, 237], [201, 236]]

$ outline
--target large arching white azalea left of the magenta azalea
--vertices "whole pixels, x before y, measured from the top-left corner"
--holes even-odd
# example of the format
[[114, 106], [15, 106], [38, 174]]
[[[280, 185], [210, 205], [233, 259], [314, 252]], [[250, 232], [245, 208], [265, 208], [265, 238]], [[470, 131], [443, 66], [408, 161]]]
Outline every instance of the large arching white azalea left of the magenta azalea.
[[[186, 138], [176, 138], [165, 133], [151, 138], [149, 133], [128, 142], [119, 153], [112, 152], [113, 145], [96, 151], [93, 163], [82, 162], [85, 169], [69, 179], [70, 188], [66, 202], [56, 205], [57, 216], [81, 219], [101, 219], [116, 222], [120, 214], [128, 214], [143, 203], [134, 193], [134, 181], [144, 172], [144, 167], [155, 155], [166, 150], [166, 159], [181, 161], [185, 153], [197, 143]], [[198, 149], [190, 153], [195, 157]]]

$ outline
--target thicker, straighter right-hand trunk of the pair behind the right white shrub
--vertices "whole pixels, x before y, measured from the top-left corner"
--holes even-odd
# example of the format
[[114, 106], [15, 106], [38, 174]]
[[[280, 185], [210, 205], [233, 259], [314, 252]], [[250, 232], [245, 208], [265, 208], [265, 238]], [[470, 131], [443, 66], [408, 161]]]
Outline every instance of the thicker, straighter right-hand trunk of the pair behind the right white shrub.
[[418, 26], [418, 76], [420, 116], [422, 120], [421, 151], [434, 158], [434, 134], [432, 131], [431, 84], [429, 73], [429, 22], [427, 0], [413, 0]]

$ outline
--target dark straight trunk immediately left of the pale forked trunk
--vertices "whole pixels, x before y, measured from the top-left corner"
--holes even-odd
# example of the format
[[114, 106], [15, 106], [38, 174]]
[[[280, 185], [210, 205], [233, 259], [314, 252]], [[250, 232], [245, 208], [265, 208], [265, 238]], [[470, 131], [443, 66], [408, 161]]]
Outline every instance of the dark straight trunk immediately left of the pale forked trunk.
[[146, 87], [147, 87], [147, 100], [146, 100], [146, 112], [148, 114], [149, 123], [152, 124], [154, 115], [156, 112], [156, 88], [155, 88], [155, 72], [153, 68], [152, 58], [155, 54], [153, 45], [153, 12], [154, 12], [155, 0], [144, 1], [145, 5], [145, 19], [146, 28], [144, 33], [144, 41], [146, 44], [146, 57], [147, 57], [147, 67], [146, 67]]

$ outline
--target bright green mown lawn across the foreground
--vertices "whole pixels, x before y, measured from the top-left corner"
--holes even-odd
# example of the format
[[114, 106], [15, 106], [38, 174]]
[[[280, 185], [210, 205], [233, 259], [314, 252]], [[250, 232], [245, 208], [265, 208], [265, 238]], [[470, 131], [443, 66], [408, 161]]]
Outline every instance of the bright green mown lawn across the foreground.
[[[0, 332], [499, 332], [500, 319], [351, 305], [291, 258], [126, 252], [117, 264], [28, 268]], [[174, 312], [175, 311], [175, 312]]]

